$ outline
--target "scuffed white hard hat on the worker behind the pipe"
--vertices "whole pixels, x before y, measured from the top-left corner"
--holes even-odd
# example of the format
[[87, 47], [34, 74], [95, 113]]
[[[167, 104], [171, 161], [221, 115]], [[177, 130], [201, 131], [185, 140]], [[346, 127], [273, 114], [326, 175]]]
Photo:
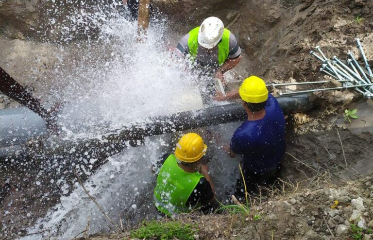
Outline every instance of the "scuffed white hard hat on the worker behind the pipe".
[[224, 24], [218, 17], [207, 17], [201, 24], [198, 33], [198, 43], [207, 49], [212, 49], [220, 42], [224, 32]]

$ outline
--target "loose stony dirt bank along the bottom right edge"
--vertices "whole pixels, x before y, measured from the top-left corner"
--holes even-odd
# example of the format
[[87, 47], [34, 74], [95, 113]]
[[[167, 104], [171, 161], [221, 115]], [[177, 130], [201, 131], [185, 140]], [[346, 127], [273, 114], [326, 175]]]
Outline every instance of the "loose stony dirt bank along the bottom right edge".
[[[347, 240], [353, 234], [371, 240], [372, 183], [373, 176], [368, 176], [347, 182], [344, 187], [324, 183], [314, 189], [277, 189], [270, 197], [252, 199], [250, 216], [184, 215], [178, 220], [198, 228], [198, 239], [205, 240]], [[254, 215], [261, 219], [253, 221]], [[89, 239], [131, 239], [129, 235], [126, 232]]]

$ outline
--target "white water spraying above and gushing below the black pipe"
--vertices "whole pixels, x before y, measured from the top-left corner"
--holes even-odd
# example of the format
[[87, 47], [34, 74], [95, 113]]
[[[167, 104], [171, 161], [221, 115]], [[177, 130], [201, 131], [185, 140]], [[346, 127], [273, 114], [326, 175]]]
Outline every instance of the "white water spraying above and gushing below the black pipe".
[[[65, 139], [95, 138], [147, 117], [203, 107], [198, 85], [209, 79], [186, 71], [185, 60], [171, 57], [166, 50], [165, 20], [153, 19], [147, 40], [138, 43], [136, 22], [127, 20], [115, 8], [109, 7], [109, 14], [99, 10], [73, 12], [68, 16], [72, 25], [66, 26], [61, 38], [61, 56], [53, 76], [51, 98], [64, 103], [59, 124]], [[51, 23], [55, 20], [51, 19]], [[71, 42], [73, 30], [85, 27], [100, 32], [94, 39], [89, 36], [86, 41]], [[79, 61], [66, 53], [68, 48], [76, 49], [73, 56], [79, 56]], [[229, 139], [236, 125], [215, 130], [220, 128], [223, 137]], [[86, 170], [90, 175], [84, 183], [86, 188], [116, 223], [119, 214], [124, 222], [130, 219], [128, 224], [156, 216], [151, 165], [173, 151], [178, 137], [180, 134], [147, 137], [143, 146], [110, 157], [95, 173]], [[211, 174], [218, 195], [225, 196], [233, 185], [226, 183], [234, 183], [237, 177], [236, 163], [226, 164], [229, 161], [226, 155], [220, 146], [212, 143], [209, 151], [216, 162], [211, 166]], [[51, 165], [53, 168], [56, 169], [55, 165]], [[28, 232], [49, 229], [45, 236], [50, 233], [58, 239], [70, 239], [85, 230], [88, 220], [89, 234], [110, 230], [110, 223], [77, 182], [69, 186], [68, 181], [60, 179], [59, 186], [63, 194], [60, 203], [49, 209]], [[67, 196], [70, 188], [73, 190]], [[23, 239], [40, 239], [40, 235]]]

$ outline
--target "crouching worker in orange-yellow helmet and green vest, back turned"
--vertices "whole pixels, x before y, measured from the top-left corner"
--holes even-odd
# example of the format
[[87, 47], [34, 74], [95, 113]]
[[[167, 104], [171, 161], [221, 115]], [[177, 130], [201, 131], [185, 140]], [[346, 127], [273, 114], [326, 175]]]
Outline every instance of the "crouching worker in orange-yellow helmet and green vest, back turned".
[[175, 154], [170, 154], [159, 170], [154, 189], [155, 206], [170, 217], [200, 209], [214, 210], [214, 186], [208, 166], [202, 164], [207, 146], [202, 137], [188, 133], [180, 138]]

